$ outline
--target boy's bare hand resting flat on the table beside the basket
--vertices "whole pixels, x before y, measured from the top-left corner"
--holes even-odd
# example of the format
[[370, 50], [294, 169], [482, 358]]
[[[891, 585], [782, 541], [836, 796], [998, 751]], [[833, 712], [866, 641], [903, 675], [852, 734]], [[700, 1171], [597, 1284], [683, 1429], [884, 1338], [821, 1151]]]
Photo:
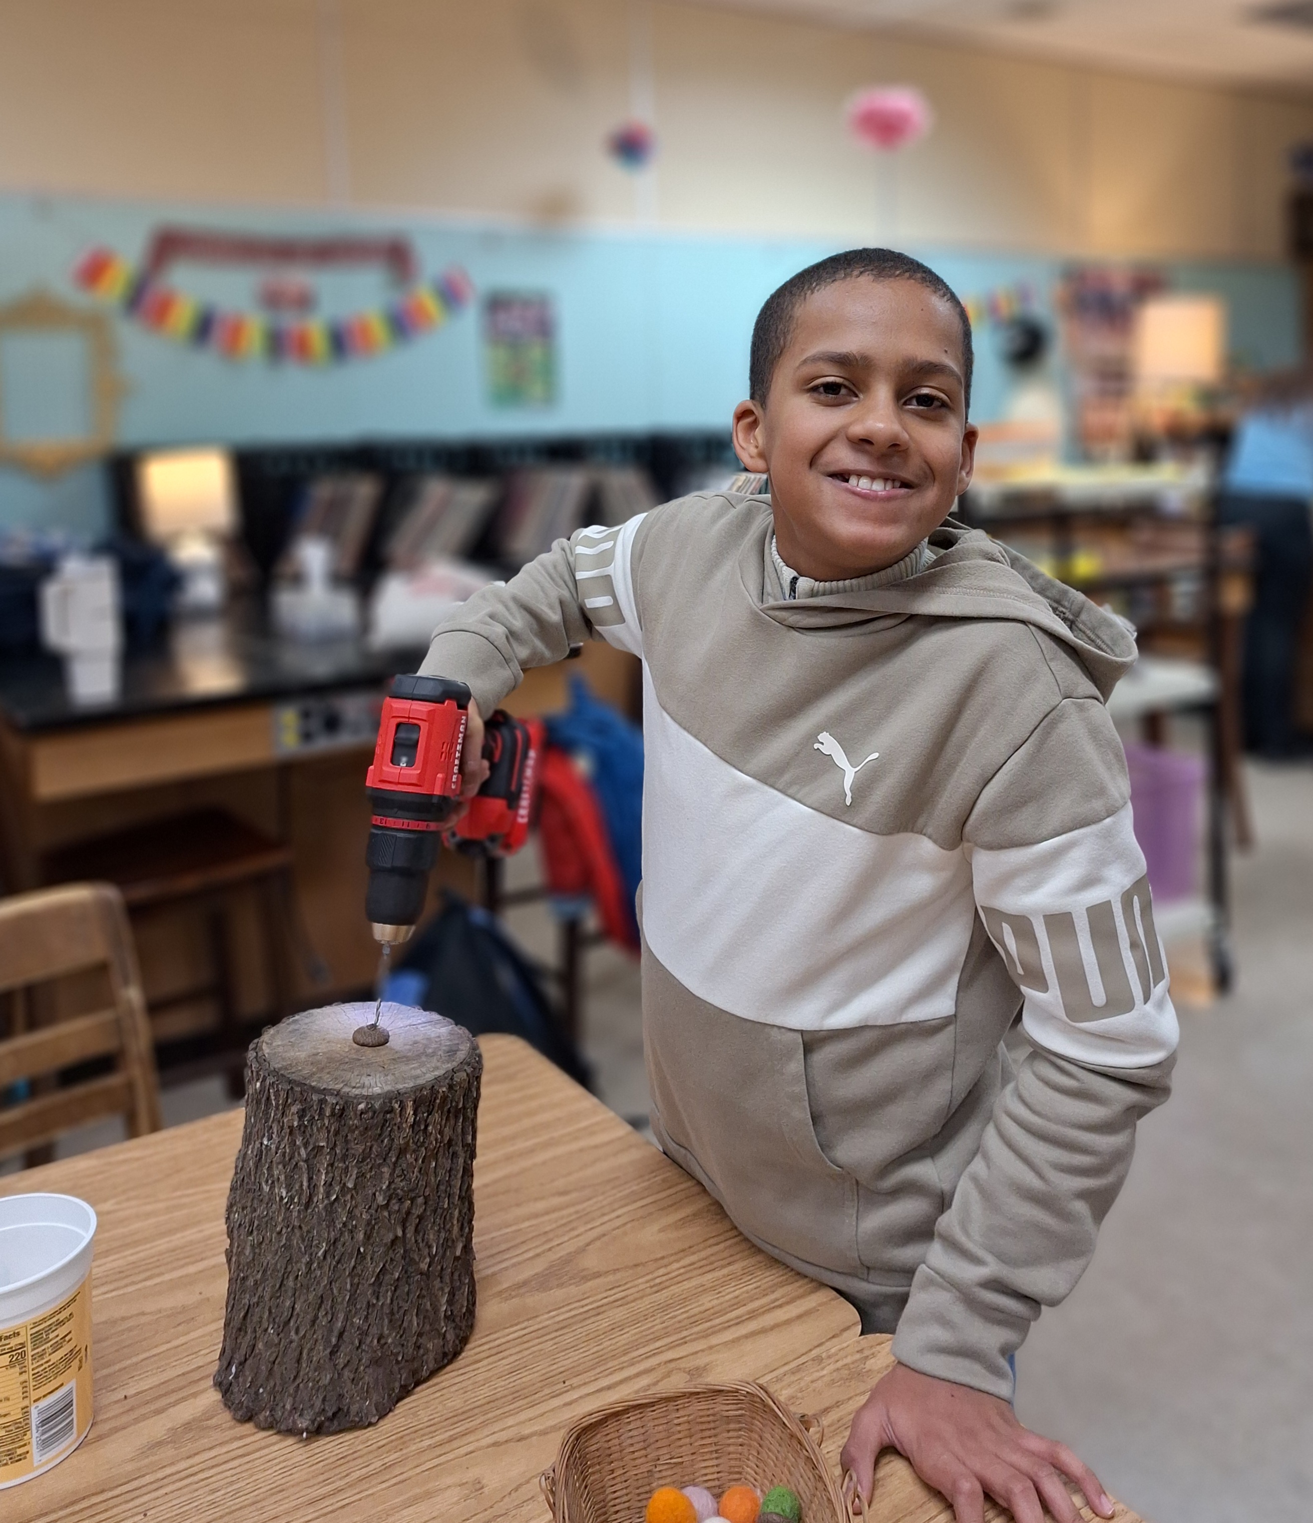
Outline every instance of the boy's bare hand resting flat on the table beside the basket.
[[1011, 1508], [1016, 1523], [1080, 1523], [1066, 1489], [1074, 1480], [1100, 1517], [1112, 1502], [1098, 1477], [1054, 1439], [1024, 1429], [999, 1397], [894, 1365], [858, 1409], [839, 1461], [871, 1499], [876, 1458], [896, 1448], [954, 1505], [957, 1523], [984, 1523], [984, 1499]]

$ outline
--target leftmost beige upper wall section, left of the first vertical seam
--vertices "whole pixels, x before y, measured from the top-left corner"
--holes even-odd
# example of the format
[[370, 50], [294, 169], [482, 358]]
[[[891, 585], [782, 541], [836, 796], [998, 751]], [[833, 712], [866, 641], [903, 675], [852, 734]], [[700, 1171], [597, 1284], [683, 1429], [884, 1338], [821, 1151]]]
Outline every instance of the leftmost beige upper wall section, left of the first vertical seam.
[[0, 184], [318, 200], [314, 0], [0, 0]]

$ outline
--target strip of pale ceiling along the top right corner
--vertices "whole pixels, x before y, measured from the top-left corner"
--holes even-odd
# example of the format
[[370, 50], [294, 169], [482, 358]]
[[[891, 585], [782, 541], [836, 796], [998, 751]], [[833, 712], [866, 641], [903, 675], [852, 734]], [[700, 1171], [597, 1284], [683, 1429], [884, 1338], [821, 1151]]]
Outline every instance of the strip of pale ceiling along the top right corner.
[[[722, 0], [725, 3], [725, 0]], [[1313, 0], [728, 0], [934, 41], [1313, 93]]]

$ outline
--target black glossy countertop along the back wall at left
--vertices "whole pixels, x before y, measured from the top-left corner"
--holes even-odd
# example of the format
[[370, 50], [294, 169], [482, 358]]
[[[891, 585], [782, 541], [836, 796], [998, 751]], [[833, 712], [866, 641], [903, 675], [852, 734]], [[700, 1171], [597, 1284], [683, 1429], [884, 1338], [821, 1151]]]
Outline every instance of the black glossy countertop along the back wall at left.
[[50, 655], [0, 655], [0, 717], [38, 734], [221, 704], [382, 687], [414, 672], [423, 650], [370, 650], [363, 640], [299, 643], [274, 635], [254, 606], [178, 620], [161, 643], [123, 656], [119, 698], [75, 705], [64, 664]]

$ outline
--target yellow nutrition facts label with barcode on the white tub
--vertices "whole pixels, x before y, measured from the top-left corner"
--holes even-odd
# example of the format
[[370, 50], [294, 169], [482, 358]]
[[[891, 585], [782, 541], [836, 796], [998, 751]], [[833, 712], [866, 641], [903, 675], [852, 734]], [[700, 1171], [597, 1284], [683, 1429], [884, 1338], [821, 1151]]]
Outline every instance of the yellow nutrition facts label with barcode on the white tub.
[[91, 1279], [0, 1328], [0, 1486], [55, 1459], [91, 1422]]

